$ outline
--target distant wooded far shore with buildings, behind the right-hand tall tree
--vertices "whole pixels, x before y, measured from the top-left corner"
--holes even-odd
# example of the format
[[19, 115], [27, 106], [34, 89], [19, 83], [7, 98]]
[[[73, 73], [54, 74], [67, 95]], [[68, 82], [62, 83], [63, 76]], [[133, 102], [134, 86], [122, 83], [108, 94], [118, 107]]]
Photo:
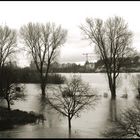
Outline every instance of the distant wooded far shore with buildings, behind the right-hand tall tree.
[[[140, 72], [140, 57], [127, 57], [120, 59], [122, 61], [122, 67], [120, 72]], [[90, 65], [90, 64], [89, 64]], [[98, 60], [94, 63], [94, 67], [90, 68], [89, 65], [80, 65], [75, 63], [58, 64], [55, 63], [51, 67], [51, 72], [54, 73], [93, 73], [93, 72], [106, 72], [104, 63], [102, 60]]]

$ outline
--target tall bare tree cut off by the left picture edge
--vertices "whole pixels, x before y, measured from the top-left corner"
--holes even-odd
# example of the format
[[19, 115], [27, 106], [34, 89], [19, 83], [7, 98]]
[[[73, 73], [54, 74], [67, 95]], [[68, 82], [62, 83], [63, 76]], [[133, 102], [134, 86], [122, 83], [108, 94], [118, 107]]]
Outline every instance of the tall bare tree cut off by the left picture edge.
[[10, 60], [10, 56], [15, 53], [16, 31], [8, 26], [0, 26], [0, 96], [2, 96], [2, 85], [4, 82], [4, 66]]

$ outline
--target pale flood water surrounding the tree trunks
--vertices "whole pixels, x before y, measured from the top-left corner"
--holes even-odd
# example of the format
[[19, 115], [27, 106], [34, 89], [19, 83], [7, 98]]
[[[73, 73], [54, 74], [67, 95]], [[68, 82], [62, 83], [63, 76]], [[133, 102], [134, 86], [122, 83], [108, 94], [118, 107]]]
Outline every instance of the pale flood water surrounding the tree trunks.
[[[76, 74], [80, 75], [83, 81], [88, 82], [101, 98], [95, 108], [85, 110], [79, 117], [72, 119], [72, 137], [102, 138], [102, 132], [110, 125], [112, 117], [119, 115], [124, 108], [133, 105], [135, 96], [138, 93], [134, 89], [131, 77], [137, 74], [120, 74], [115, 103], [110, 100], [107, 77], [104, 73]], [[62, 75], [70, 78], [73, 74], [63, 73]], [[49, 85], [49, 88], [53, 86], [57, 85]], [[12, 109], [43, 113], [46, 121], [44, 124], [21, 125], [13, 129], [0, 131], [0, 138], [68, 138], [67, 118], [50, 109], [49, 105], [41, 102], [39, 85], [25, 84], [24, 90], [25, 94], [27, 94], [26, 100], [15, 102], [11, 106]], [[108, 93], [109, 96], [105, 98], [103, 96], [104, 93]], [[128, 94], [128, 98], [122, 98], [122, 95], [125, 93]], [[115, 114], [112, 112], [114, 105], [116, 108]]]

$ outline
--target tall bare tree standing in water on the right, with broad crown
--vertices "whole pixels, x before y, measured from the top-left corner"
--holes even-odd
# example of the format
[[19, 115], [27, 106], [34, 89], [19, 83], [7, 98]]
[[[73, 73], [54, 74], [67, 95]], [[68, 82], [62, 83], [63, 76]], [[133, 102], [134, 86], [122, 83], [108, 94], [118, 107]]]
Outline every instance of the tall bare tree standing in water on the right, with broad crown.
[[132, 33], [125, 21], [120, 17], [113, 17], [103, 22], [101, 19], [87, 18], [86, 25], [80, 29], [86, 39], [95, 44], [97, 53], [106, 69], [111, 97], [116, 98], [116, 79], [130, 48]]

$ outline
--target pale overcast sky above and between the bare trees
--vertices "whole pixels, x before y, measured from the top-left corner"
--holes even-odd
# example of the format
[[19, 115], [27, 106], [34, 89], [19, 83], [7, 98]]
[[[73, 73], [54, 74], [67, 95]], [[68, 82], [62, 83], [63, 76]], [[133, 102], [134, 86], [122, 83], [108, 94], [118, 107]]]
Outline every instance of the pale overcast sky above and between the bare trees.
[[[59, 62], [84, 62], [83, 53], [94, 53], [93, 45], [82, 40], [79, 25], [86, 17], [101, 18], [121, 16], [134, 33], [133, 47], [140, 51], [139, 1], [12, 1], [0, 2], [0, 25], [19, 29], [28, 22], [55, 22], [68, 30], [67, 42], [60, 50]], [[19, 44], [20, 45], [20, 44]], [[94, 54], [93, 54], [94, 55]], [[95, 56], [95, 55], [94, 55]], [[24, 53], [18, 55], [20, 66], [29, 65]], [[95, 57], [90, 57], [94, 61]]]

